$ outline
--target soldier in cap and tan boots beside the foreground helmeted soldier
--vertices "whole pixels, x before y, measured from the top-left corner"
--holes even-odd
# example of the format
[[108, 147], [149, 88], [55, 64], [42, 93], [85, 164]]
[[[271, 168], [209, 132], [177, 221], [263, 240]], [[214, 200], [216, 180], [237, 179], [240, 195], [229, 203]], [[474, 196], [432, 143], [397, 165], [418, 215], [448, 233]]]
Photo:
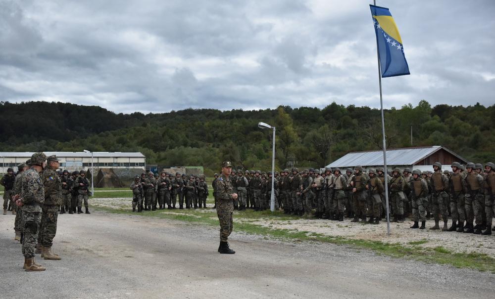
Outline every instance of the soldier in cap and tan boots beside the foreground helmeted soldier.
[[47, 159], [48, 166], [43, 171], [41, 180], [45, 189], [45, 203], [41, 216], [40, 235], [38, 243], [41, 248], [41, 257], [45, 259], [58, 260], [60, 256], [51, 251], [53, 238], [57, 232], [58, 207], [62, 205], [62, 181], [57, 174], [60, 166], [55, 155]]

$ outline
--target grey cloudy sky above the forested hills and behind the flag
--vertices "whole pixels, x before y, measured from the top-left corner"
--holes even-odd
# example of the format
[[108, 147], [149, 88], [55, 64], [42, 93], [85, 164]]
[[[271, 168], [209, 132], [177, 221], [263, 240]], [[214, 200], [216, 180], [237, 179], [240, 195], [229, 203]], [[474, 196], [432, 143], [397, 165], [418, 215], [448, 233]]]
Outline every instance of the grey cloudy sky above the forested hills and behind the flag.
[[[0, 0], [0, 100], [115, 112], [379, 107], [364, 0]], [[474, 2], [474, 1], [473, 1]], [[384, 105], [495, 103], [495, 1], [378, 0], [410, 76]]]

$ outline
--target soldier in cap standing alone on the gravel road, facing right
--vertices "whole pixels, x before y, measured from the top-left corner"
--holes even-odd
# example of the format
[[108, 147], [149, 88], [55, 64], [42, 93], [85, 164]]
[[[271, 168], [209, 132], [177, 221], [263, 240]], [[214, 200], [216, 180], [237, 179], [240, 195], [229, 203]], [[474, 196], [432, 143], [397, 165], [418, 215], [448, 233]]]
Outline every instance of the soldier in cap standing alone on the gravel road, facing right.
[[233, 193], [232, 183], [229, 175], [232, 172], [232, 165], [229, 161], [222, 163], [222, 174], [216, 180], [217, 190], [217, 215], [220, 222], [220, 246], [218, 252], [221, 254], [235, 254], [229, 248], [228, 238], [232, 233], [234, 214], [234, 201], [237, 201], [237, 193]]

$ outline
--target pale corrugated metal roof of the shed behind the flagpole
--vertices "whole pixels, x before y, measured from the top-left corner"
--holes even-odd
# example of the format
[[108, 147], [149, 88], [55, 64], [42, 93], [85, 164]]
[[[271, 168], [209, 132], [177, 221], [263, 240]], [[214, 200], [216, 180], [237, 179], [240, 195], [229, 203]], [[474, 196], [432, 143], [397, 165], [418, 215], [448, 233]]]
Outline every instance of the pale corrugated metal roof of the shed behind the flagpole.
[[[423, 160], [424, 158], [440, 150], [441, 148], [442, 146], [440, 145], [434, 145], [428, 147], [390, 149], [387, 150], [387, 165], [390, 166], [413, 165], [416, 162]], [[452, 153], [450, 150], [448, 151]], [[329, 165], [327, 165], [327, 167], [344, 168], [344, 167], [354, 167], [357, 165], [361, 165], [361, 166], [383, 165], [383, 151], [378, 150], [378, 151], [368, 151], [368, 152], [351, 152], [345, 155], [344, 157], [330, 163]]]

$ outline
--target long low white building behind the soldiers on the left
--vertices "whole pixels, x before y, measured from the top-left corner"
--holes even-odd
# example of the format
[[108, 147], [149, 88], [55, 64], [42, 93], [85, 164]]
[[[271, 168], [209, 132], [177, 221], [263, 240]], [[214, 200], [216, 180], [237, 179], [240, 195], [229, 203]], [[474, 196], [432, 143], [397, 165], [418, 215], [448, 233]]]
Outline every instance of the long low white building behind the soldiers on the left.
[[[44, 152], [47, 157], [56, 155], [60, 160], [60, 169], [68, 171], [88, 170], [93, 166], [99, 168], [139, 168], [146, 169], [146, 157], [142, 153], [123, 152]], [[17, 171], [17, 165], [31, 158], [33, 152], [0, 152], [0, 173], [5, 173], [9, 167]]]

